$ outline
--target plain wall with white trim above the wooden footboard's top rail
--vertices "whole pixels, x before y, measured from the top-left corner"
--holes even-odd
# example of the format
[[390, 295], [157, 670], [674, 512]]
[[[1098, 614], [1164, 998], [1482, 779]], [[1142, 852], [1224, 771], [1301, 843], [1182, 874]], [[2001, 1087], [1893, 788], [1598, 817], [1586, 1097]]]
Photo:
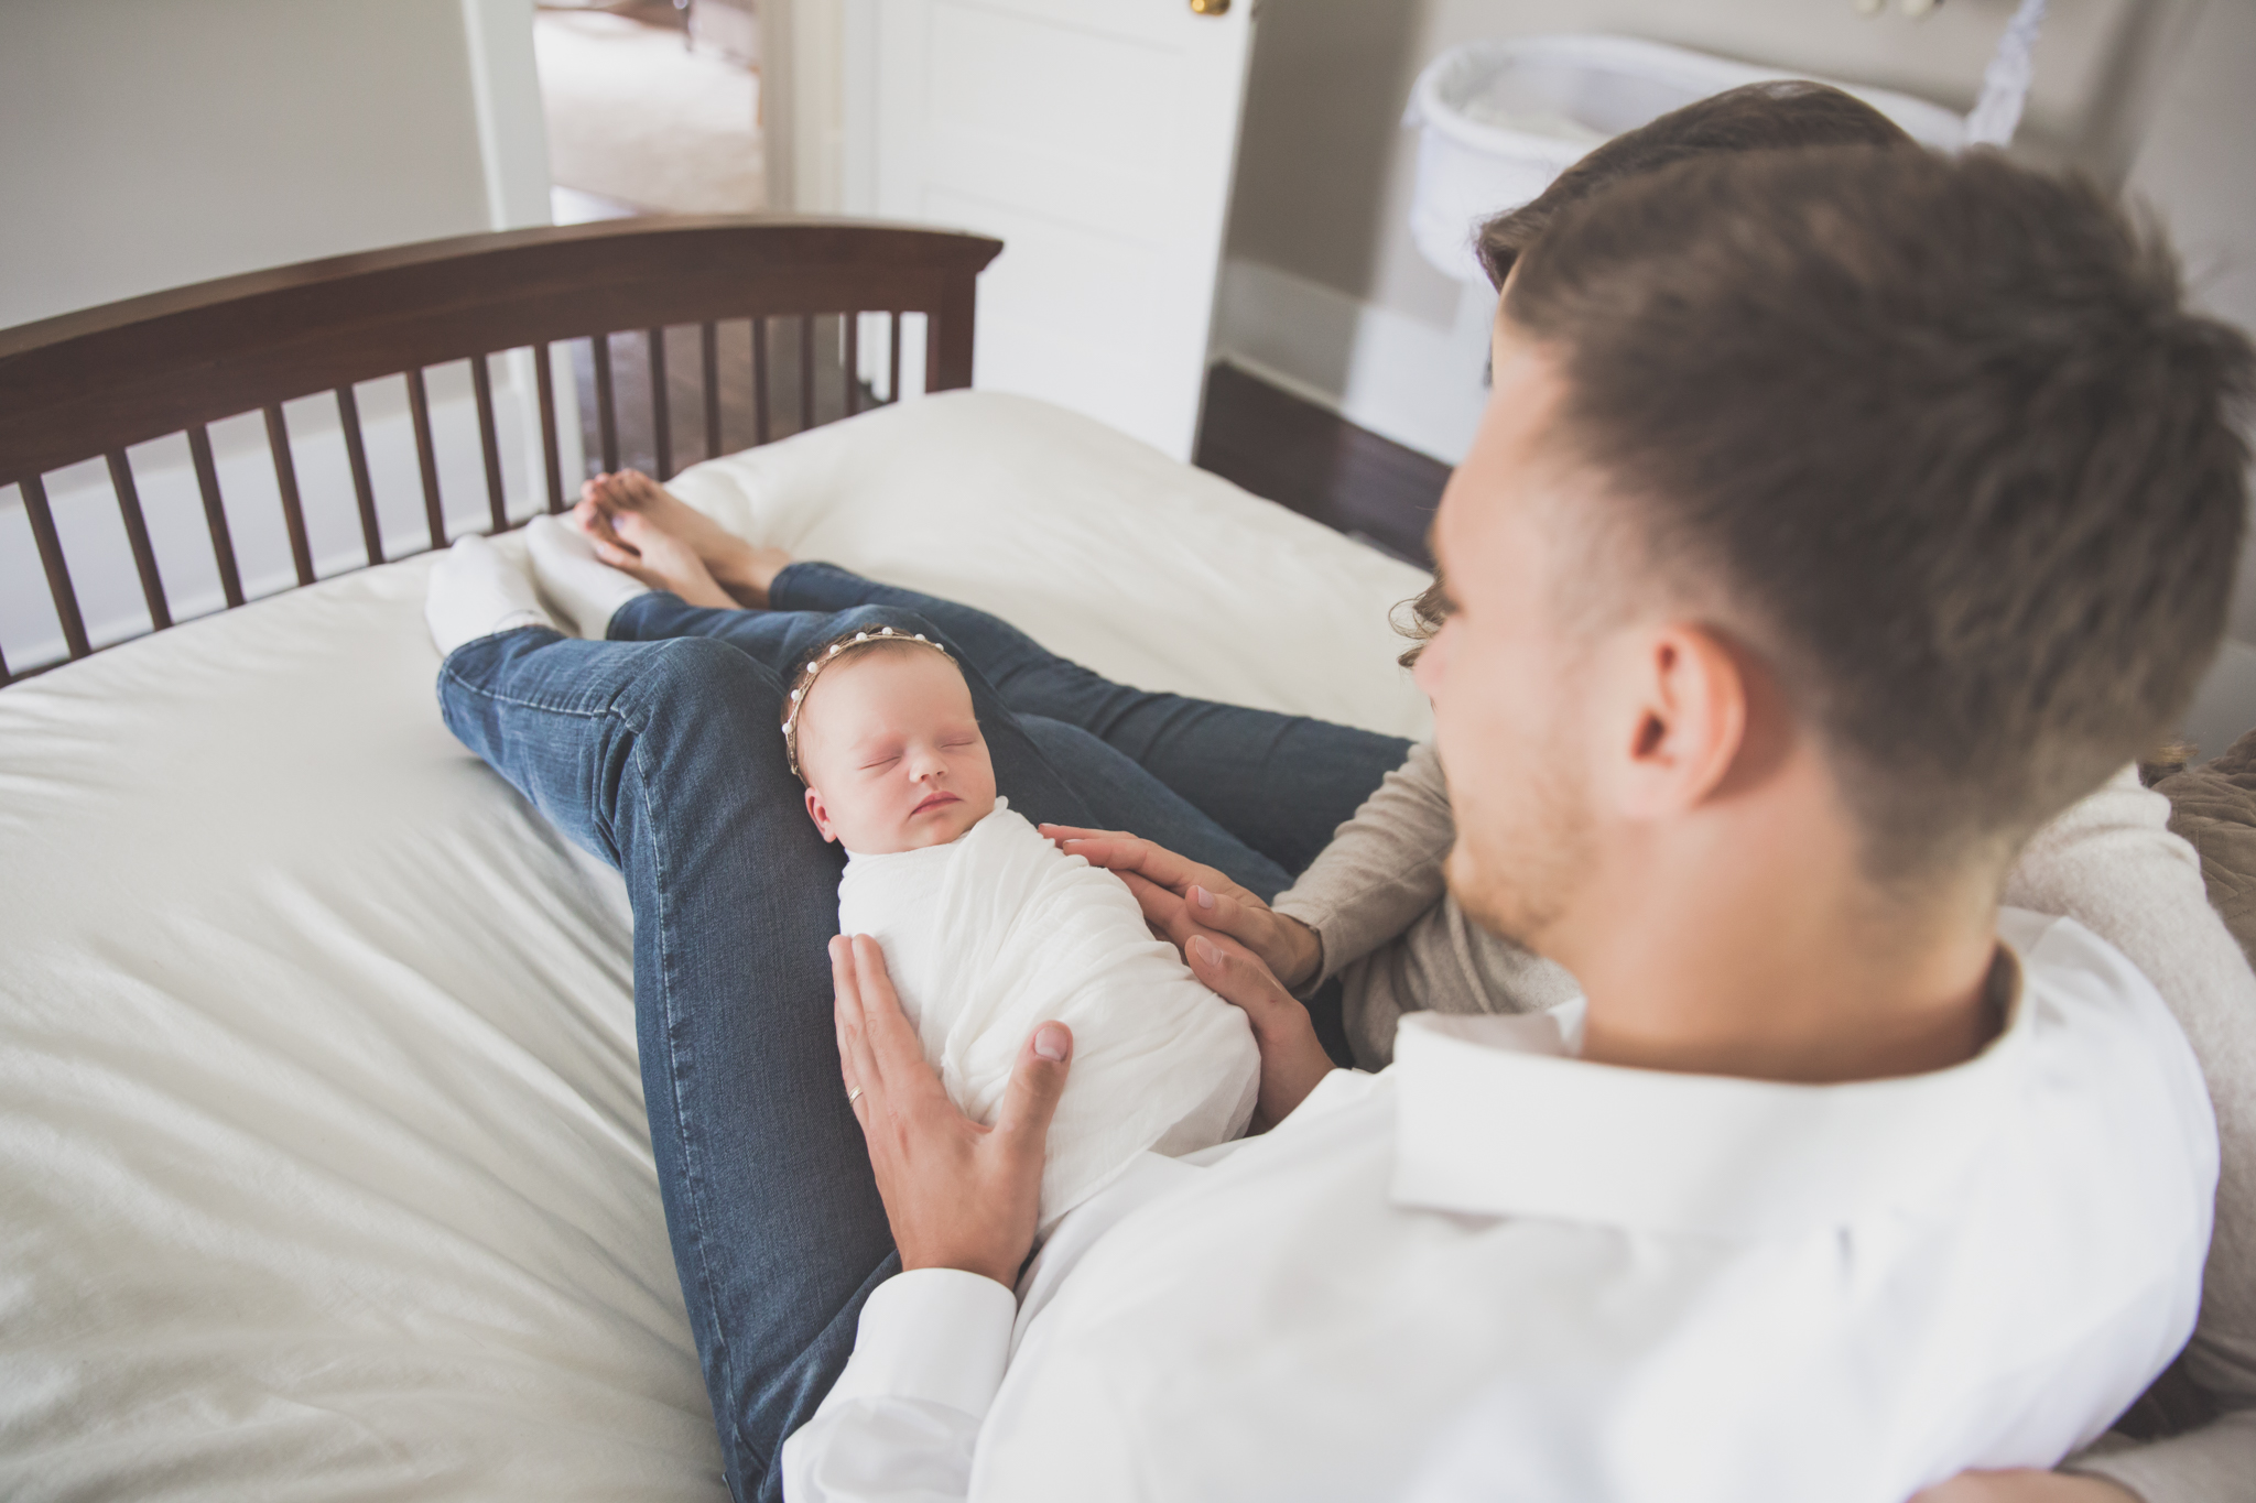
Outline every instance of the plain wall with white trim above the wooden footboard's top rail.
[[0, 327], [548, 221], [532, 0], [9, 0]]

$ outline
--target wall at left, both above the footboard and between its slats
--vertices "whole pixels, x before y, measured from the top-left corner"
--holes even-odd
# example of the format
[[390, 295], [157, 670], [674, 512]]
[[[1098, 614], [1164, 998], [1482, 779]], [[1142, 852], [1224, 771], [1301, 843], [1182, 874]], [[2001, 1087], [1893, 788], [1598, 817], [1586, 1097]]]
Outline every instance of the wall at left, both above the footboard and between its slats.
[[[314, 257], [548, 221], [532, 0], [0, 0], [0, 327]], [[496, 361], [514, 509], [537, 505], [528, 356]], [[569, 399], [564, 370], [559, 397]], [[451, 527], [485, 516], [467, 367], [431, 379]], [[424, 541], [404, 385], [361, 412], [393, 552]], [[318, 572], [359, 563], [327, 397], [287, 406]], [[566, 466], [578, 464], [566, 410]], [[289, 584], [255, 417], [214, 424], [244, 586]], [[219, 604], [185, 439], [135, 478], [176, 615]], [[147, 626], [99, 464], [47, 475], [88, 633]], [[61, 651], [29, 527], [0, 487], [0, 647]]]

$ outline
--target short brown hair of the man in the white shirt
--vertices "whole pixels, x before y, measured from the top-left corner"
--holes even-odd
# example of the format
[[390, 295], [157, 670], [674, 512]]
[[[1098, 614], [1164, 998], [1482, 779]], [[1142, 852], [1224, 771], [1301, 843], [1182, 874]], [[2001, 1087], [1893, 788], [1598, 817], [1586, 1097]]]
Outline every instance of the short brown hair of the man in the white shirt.
[[[1906, 877], [2173, 730], [2224, 629], [2251, 352], [2098, 189], [1994, 153], [1676, 162], [1563, 207], [1505, 318], [1642, 566], [1724, 602]], [[1627, 599], [1622, 602], [1627, 604]]]

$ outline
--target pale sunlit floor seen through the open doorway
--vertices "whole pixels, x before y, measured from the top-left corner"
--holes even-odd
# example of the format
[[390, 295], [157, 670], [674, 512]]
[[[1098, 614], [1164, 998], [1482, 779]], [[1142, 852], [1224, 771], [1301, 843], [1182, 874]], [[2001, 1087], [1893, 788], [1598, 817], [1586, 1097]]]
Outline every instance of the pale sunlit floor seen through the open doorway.
[[763, 207], [756, 72], [605, 11], [544, 9], [532, 41], [562, 187], [672, 214]]

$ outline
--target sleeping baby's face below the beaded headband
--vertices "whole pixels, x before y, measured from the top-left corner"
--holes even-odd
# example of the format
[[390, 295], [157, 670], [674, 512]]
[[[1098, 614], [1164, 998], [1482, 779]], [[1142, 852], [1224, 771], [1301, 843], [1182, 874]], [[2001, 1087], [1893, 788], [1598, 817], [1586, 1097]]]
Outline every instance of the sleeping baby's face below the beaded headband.
[[864, 856], [948, 845], [995, 813], [995, 764], [957, 665], [925, 647], [826, 667], [799, 708], [823, 841]]

